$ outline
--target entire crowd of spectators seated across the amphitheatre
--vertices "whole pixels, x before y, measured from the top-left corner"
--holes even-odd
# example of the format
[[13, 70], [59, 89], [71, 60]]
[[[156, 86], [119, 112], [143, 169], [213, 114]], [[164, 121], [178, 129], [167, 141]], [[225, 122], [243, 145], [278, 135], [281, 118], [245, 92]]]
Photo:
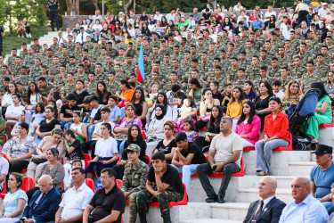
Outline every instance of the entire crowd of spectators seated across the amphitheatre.
[[[278, 15], [271, 6], [248, 12], [240, 3], [228, 11], [194, 8], [189, 16], [180, 9], [166, 16], [96, 11], [58, 31], [52, 45], [34, 39], [20, 54], [13, 48], [6, 62], [0, 56], [6, 156], [0, 186], [10, 191], [0, 222], [120, 222], [126, 199], [130, 222], [137, 214], [146, 222], [147, 204], [156, 201], [170, 222], [168, 202], [183, 200], [194, 173], [206, 202], [224, 203], [249, 146], [257, 152], [254, 174], [266, 176], [260, 186], [270, 191], [260, 194], [262, 209], [261, 202], [250, 206], [246, 222], [257, 220], [277, 187], [268, 177], [273, 149], [292, 143], [292, 105], [308, 89], [319, 90], [305, 128], [313, 144], [319, 144], [319, 125], [332, 123], [334, 12], [312, 3], [296, 1]], [[141, 46], [144, 81], [138, 82]], [[276, 203], [283, 211], [273, 212], [273, 222], [280, 216], [280, 222], [299, 222], [293, 219], [316, 211], [323, 214], [316, 222], [327, 221], [334, 211], [331, 153], [318, 146], [311, 183], [294, 179], [296, 202], [284, 210]], [[26, 193], [22, 171], [36, 181]], [[220, 172], [216, 193], [208, 174]], [[94, 180], [96, 193], [85, 178]], [[300, 202], [315, 203], [315, 212], [295, 209]]]

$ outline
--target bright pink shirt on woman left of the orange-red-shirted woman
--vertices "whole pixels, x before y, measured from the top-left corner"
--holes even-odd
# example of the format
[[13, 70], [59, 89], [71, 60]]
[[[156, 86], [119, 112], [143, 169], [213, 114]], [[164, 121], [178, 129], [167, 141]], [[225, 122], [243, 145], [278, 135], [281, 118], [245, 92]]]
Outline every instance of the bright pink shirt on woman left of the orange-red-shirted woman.
[[251, 124], [244, 123], [241, 121], [237, 128], [235, 128], [235, 133], [238, 135], [247, 135], [248, 138], [245, 138], [249, 143], [254, 144], [257, 143], [258, 140], [258, 132], [261, 128], [261, 120], [257, 115], [253, 117], [253, 121]]

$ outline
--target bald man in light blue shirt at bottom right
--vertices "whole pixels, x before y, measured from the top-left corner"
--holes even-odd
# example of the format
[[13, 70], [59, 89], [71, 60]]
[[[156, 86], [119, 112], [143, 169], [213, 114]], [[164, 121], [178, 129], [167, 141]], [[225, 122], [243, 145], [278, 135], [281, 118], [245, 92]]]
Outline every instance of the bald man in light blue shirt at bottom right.
[[280, 223], [310, 222], [326, 223], [329, 219], [325, 207], [311, 194], [311, 183], [308, 178], [294, 178], [291, 183], [292, 197], [281, 212]]

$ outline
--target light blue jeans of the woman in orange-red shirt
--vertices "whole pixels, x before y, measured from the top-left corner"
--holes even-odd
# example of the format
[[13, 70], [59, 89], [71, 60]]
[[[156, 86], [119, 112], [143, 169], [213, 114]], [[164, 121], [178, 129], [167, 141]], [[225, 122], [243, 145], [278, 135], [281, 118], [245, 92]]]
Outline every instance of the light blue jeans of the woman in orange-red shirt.
[[272, 160], [273, 149], [280, 146], [288, 147], [289, 142], [281, 138], [273, 139], [265, 144], [263, 139], [257, 141], [255, 144], [255, 149], [257, 151], [257, 171], [272, 172], [270, 161]]

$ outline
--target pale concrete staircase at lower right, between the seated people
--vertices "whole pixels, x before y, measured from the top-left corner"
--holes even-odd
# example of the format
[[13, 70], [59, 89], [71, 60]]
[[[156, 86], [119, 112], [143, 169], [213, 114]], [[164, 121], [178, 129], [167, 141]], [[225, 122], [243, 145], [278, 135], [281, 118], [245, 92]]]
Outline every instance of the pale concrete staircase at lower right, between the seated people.
[[[243, 153], [245, 161], [245, 177], [232, 178], [226, 191], [226, 203], [207, 203], [207, 198], [199, 178], [191, 178], [191, 188], [188, 192], [189, 200], [186, 206], [175, 206], [171, 209], [172, 222], [180, 223], [239, 223], [245, 218], [250, 202], [259, 199], [257, 185], [261, 177], [255, 175], [256, 152]], [[273, 152], [273, 177], [278, 181], [276, 197], [281, 201], [292, 202], [290, 183], [297, 176], [309, 178], [314, 167], [314, 155], [309, 151]], [[210, 178], [216, 192], [219, 189], [221, 178]], [[128, 207], [123, 215], [128, 222]], [[162, 222], [159, 207], [150, 207], [148, 222]], [[138, 221], [139, 222], [139, 221]]]

